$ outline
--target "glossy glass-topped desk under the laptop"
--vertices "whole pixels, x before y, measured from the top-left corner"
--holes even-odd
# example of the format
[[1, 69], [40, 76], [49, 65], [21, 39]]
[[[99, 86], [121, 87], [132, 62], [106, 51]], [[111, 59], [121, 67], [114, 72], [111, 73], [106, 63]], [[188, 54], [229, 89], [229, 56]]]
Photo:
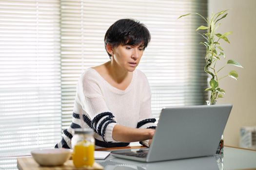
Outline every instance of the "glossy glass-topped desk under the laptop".
[[[120, 152], [120, 149], [139, 150], [141, 148], [123, 147], [118, 150], [112, 149], [112, 151]], [[0, 158], [0, 170], [15, 170], [13, 167], [17, 166], [16, 159], [17, 157]], [[225, 146], [223, 164], [220, 162], [219, 155], [154, 163], [130, 161], [109, 155], [105, 160], [96, 161], [104, 167], [104, 170], [256, 170], [256, 151]], [[7, 166], [7, 163], [12, 166]]]

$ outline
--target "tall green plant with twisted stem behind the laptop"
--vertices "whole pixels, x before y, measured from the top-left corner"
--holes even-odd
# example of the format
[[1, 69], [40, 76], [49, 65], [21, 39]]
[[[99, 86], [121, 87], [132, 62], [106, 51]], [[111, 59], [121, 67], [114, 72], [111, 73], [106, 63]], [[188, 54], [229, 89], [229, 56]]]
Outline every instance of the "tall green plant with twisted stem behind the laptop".
[[[206, 47], [206, 55], [205, 55], [205, 62], [206, 65], [204, 67], [204, 71], [208, 74], [210, 74], [212, 76], [209, 85], [209, 88], [206, 88], [205, 91], [211, 91], [211, 103], [215, 103], [216, 100], [218, 98], [222, 98], [223, 94], [225, 94], [225, 90], [221, 89], [219, 87], [219, 81], [227, 76], [237, 80], [238, 78], [238, 74], [235, 70], [232, 70], [229, 72], [228, 75], [225, 75], [221, 78], [218, 78], [218, 73], [225, 68], [227, 65], [234, 65], [236, 67], [240, 67], [243, 68], [238, 62], [236, 62], [235, 60], [228, 60], [227, 63], [217, 69], [216, 68], [216, 64], [217, 61], [221, 60], [221, 58], [226, 58], [225, 54], [224, 54], [224, 50], [223, 48], [220, 46], [220, 42], [219, 40], [222, 39], [224, 41], [226, 41], [227, 43], [230, 43], [227, 36], [229, 34], [232, 34], [232, 32], [226, 32], [224, 34], [220, 34], [220, 33], [215, 33], [217, 28], [220, 26], [220, 23], [217, 23], [218, 21], [220, 21], [221, 19], [225, 18], [228, 13], [228, 10], [224, 10], [221, 12], [218, 12], [216, 14], [212, 14], [211, 17], [205, 18], [202, 15], [198, 14], [198, 13], [189, 13], [186, 15], [182, 15], [180, 17], [185, 17], [191, 14], [195, 14], [198, 15], [200, 17], [202, 17], [206, 23], [207, 26], [203, 26], [201, 25], [200, 27], [197, 28], [196, 31], [198, 30], [206, 30], [205, 33], [200, 34], [201, 36], [203, 36], [203, 38], [206, 40], [204, 42], [200, 42], [200, 44], [203, 44]], [[180, 18], [178, 17], [178, 18]]]

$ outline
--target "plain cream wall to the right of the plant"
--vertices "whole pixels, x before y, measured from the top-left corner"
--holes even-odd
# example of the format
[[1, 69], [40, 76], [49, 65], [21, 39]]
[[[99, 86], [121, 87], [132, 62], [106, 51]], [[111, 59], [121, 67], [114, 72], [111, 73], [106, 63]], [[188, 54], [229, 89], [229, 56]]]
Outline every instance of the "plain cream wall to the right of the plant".
[[231, 44], [222, 41], [228, 59], [234, 59], [244, 69], [228, 67], [238, 72], [238, 81], [229, 77], [220, 82], [225, 97], [217, 103], [233, 103], [224, 131], [224, 144], [239, 145], [239, 129], [256, 126], [256, 0], [208, 0], [209, 14], [231, 9], [220, 23], [219, 33], [233, 31]]

